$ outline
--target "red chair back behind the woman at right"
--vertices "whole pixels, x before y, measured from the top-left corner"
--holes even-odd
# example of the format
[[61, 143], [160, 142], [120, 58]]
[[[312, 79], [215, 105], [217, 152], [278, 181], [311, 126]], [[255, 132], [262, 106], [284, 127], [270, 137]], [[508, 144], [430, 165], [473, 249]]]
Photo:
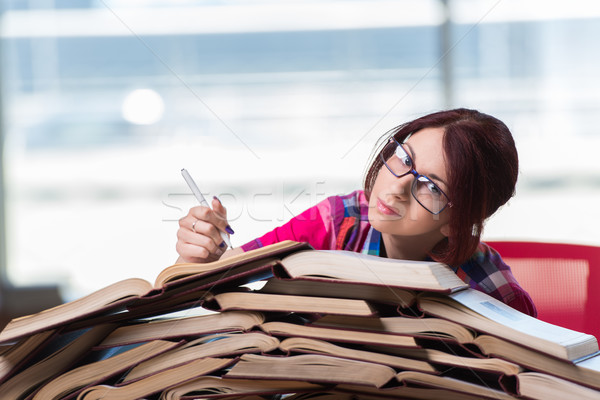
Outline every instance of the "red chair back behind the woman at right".
[[600, 339], [600, 247], [486, 242], [529, 292], [538, 318]]

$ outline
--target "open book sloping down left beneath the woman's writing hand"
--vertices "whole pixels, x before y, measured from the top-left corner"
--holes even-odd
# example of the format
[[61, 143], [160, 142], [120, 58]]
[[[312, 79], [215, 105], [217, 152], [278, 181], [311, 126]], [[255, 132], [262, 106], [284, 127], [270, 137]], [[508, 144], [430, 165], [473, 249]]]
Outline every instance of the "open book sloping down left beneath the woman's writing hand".
[[[260, 249], [237, 254], [206, 264], [175, 264], [164, 269], [151, 284], [139, 278], [125, 279], [99, 289], [87, 296], [69, 303], [61, 304], [36, 314], [13, 319], [0, 332], [0, 343], [14, 341], [42, 330], [64, 326], [73, 321], [81, 322], [98, 315], [114, 315], [115, 320], [123, 319], [127, 307], [147, 305], [150, 310], [164, 310], [156, 305], [177, 295], [181, 302], [189, 301], [180, 294], [187, 290], [199, 290], [211, 287], [215, 282], [232, 282], [232, 284], [248, 283], [260, 280], [271, 274], [274, 260], [299, 250], [306, 250], [306, 243], [285, 241]], [[200, 285], [198, 281], [202, 281]], [[165, 299], [166, 298], [166, 299]], [[173, 300], [169, 307], [173, 308]], [[139, 316], [139, 315], [138, 315]], [[111, 318], [100, 320], [108, 322]], [[81, 327], [81, 325], [79, 326]]]

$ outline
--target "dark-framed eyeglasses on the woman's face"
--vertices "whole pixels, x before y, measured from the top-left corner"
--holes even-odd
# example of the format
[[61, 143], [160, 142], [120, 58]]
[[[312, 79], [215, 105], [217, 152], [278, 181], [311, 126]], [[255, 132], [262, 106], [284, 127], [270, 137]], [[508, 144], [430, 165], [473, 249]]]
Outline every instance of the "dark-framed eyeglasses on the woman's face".
[[452, 206], [446, 193], [435, 182], [417, 172], [412, 158], [396, 139], [390, 138], [390, 141], [381, 151], [381, 160], [396, 178], [408, 174], [415, 178], [410, 192], [414, 199], [433, 215], [437, 215], [444, 211], [446, 207]]

